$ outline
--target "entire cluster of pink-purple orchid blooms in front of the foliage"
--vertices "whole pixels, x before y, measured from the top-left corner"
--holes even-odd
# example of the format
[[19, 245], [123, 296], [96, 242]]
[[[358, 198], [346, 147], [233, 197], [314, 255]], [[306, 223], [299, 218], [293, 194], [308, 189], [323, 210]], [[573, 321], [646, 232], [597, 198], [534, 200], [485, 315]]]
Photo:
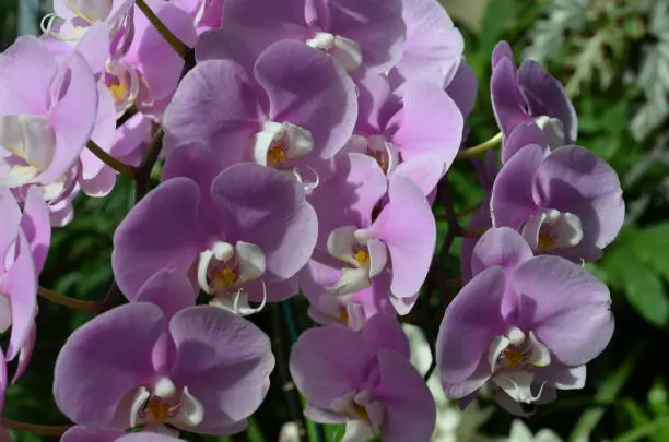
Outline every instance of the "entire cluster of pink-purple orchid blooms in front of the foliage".
[[[496, 46], [501, 135], [468, 148], [477, 79], [436, 0], [54, 0], [43, 31], [0, 55], [2, 391], [5, 361], [12, 382], [28, 367], [37, 294], [68, 304], [38, 284], [51, 228], [119, 174], [138, 188], [111, 259], [129, 302], [102, 306], [56, 362], [63, 442], [244, 430], [275, 365], [247, 316], [296, 296], [319, 324], [289, 361], [305, 416], [345, 423], [347, 442], [429, 441], [430, 373], [400, 322], [434, 273], [432, 204], [456, 158], [486, 198], [468, 227], [446, 201], [451, 240], [478, 234], [432, 339], [443, 390], [526, 415], [584, 386], [613, 318], [582, 264], [624, 203], [539, 64]], [[501, 156], [474, 158], [495, 141]]]

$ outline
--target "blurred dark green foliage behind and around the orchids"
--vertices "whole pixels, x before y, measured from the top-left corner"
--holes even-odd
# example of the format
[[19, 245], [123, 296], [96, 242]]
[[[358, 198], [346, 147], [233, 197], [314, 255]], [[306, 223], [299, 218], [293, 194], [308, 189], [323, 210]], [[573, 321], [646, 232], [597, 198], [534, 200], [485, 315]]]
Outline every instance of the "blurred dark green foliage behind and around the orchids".
[[[13, 38], [15, 8], [15, 0], [0, 2], [3, 47]], [[478, 144], [496, 133], [488, 84], [490, 55], [497, 40], [506, 39], [518, 59], [540, 60], [566, 85], [579, 115], [578, 144], [619, 172], [627, 203], [621, 236], [602, 261], [588, 265], [611, 287], [614, 338], [589, 366], [586, 389], [560, 392], [556, 403], [540, 408], [527, 423], [533, 430], [551, 428], [574, 442], [669, 441], [669, 359], [664, 358], [669, 349], [669, 2], [490, 0], [481, 29], [462, 28], [468, 62], [480, 80], [467, 143]], [[456, 211], [481, 201], [483, 192], [471, 165], [454, 167], [451, 183]], [[118, 184], [107, 199], [78, 200], [74, 222], [54, 232], [42, 285], [79, 299], [105, 296], [111, 282], [111, 236], [132, 205], [132, 183], [119, 179]], [[435, 213], [443, 213], [443, 207], [435, 207]], [[438, 226], [441, 238], [445, 227]], [[451, 254], [444, 278], [459, 274], [459, 241]], [[450, 291], [448, 296], [454, 296], [455, 289]], [[42, 300], [39, 308], [34, 361], [25, 378], [10, 387], [4, 415], [35, 423], [66, 423], [51, 397], [54, 360], [68, 334], [90, 315]], [[310, 326], [304, 302], [297, 300], [296, 308], [298, 325]], [[434, 309], [438, 320], [443, 309]], [[271, 330], [268, 314], [254, 321]], [[282, 423], [291, 419], [282, 381], [272, 375], [268, 399], [248, 433], [233, 441], [274, 442]], [[509, 423], [509, 416], [496, 413], [484, 432], [507, 434]], [[313, 426], [310, 430], [316, 441]], [[338, 434], [340, 427], [327, 426], [325, 440]], [[39, 440], [57, 439], [15, 438]], [[189, 440], [231, 439], [193, 435]]]

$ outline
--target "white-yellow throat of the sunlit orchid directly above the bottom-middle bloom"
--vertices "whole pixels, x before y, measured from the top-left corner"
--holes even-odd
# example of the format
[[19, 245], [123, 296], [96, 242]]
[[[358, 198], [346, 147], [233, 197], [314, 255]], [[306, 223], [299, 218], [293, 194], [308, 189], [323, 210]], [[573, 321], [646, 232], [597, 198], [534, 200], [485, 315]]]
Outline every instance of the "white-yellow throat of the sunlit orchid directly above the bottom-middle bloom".
[[328, 237], [328, 252], [352, 265], [343, 267], [341, 277], [328, 290], [349, 295], [372, 286], [372, 278], [382, 274], [388, 264], [388, 247], [367, 229], [339, 227]]

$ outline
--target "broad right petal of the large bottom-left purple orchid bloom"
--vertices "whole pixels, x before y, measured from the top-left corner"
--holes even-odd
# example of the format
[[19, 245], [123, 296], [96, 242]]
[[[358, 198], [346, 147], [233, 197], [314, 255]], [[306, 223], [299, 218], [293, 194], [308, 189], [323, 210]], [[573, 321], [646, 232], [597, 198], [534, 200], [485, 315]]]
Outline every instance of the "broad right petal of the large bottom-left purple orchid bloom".
[[226, 310], [197, 306], [169, 322], [176, 344], [175, 382], [188, 386], [204, 406], [206, 433], [236, 432], [269, 390], [274, 357], [265, 333]]

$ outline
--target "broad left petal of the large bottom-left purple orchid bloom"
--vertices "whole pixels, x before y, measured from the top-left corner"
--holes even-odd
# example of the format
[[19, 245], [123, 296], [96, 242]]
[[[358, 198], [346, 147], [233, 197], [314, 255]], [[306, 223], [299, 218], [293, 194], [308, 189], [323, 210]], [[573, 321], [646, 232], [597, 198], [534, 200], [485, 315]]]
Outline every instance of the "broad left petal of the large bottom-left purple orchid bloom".
[[125, 430], [128, 421], [113, 422], [117, 408], [156, 377], [152, 351], [166, 327], [161, 309], [141, 302], [117, 307], [74, 331], [56, 361], [58, 408], [79, 425]]

